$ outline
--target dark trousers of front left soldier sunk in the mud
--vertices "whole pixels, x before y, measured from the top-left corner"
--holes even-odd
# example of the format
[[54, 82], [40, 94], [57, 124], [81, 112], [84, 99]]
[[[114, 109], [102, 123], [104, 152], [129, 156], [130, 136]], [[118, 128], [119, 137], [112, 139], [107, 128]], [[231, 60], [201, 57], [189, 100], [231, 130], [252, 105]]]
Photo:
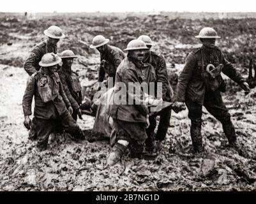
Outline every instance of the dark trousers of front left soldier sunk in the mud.
[[55, 119], [38, 119], [36, 120], [36, 133], [38, 135], [38, 147], [43, 147], [47, 145], [50, 133], [56, 133], [59, 131], [59, 122], [62, 128], [70, 135], [75, 138], [84, 138], [84, 133], [79, 128], [75, 120], [72, 118], [68, 110], [66, 110], [62, 115], [59, 115]]

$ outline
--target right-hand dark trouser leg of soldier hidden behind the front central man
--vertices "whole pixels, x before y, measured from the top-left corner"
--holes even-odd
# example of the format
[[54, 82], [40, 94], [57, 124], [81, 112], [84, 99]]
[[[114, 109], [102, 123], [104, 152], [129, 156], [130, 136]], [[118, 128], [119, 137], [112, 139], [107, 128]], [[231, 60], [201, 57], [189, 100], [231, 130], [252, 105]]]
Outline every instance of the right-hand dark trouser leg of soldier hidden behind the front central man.
[[171, 108], [165, 108], [160, 112], [160, 120], [158, 124], [158, 129], [156, 132], [156, 140], [163, 141], [165, 140], [166, 133], [170, 126], [170, 115], [172, 113]]

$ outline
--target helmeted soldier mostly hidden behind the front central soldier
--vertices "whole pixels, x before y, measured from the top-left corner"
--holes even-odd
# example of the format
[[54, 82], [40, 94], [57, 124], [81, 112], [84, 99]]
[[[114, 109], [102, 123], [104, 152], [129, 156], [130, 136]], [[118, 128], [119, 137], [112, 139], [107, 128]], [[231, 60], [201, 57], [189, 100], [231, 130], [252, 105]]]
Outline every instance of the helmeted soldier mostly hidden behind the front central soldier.
[[[167, 67], [165, 58], [161, 54], [156, 54], [150, 50], [153, 46], [153, 42], [149, 36], [142, 35], [139, 36], [139, 40], [144, 41], [146, 43], [149, 50], [145, 50], [143, 62], [147, 64], [151, 64], [153, 66], [154, 71], [156, 73], [156, 82], [162, 82], [162, 99], [163, 101], [172, 102], [172, 88], [170, 87], [170, 83], [168, 80]], [[170, 113], [171, 107], [165, 108], [160, 113], [160, 122], [158, 126], [158, 130], [156, 132], [155, 140], [163, 141], [165, 140], [165, 135], [169, 128], [170, 124]], [[149, 117], [150, 126], [147, 129], [147, 140], [146, 140], [146, 149], [148, 152], [154, 151], [154, 129], [156, 128], [156, 117]]]

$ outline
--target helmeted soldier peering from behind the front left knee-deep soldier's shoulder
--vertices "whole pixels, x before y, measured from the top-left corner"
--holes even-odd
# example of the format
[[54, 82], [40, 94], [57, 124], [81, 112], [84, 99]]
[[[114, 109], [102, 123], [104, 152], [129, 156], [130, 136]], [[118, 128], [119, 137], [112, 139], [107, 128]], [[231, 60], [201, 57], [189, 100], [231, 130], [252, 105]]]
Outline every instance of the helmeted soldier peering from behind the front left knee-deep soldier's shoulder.
[[74, 58], [77, 58], [77, 56], [75, 56], [72, 50], [64, 50], [61, 53], [63, 65], [57, 72], [59, 73], [59, 78], [61, 78], [61, 84], [63, 85], [66, 97], [72, 105], [72, 117], [77, 120], [77, 115], [82, 119], [82, 113], [80, 110], [80, 105], [82, 104], [82, 87], [77, 73], [73, 72], [71, 68]]

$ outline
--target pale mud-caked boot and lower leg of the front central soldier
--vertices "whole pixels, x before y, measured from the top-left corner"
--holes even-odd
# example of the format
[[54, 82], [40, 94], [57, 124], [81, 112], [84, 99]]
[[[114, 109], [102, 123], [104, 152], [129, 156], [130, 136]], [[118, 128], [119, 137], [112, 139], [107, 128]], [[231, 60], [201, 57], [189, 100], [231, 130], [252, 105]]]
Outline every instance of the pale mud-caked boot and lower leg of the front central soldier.
[[126, 146], [117, 142], [112, 148], [109, 157], [107, 157], [107, 165], [113, 166], [117, 162], [121, 161], [121, 158], [123, 157], [126, 149]]

